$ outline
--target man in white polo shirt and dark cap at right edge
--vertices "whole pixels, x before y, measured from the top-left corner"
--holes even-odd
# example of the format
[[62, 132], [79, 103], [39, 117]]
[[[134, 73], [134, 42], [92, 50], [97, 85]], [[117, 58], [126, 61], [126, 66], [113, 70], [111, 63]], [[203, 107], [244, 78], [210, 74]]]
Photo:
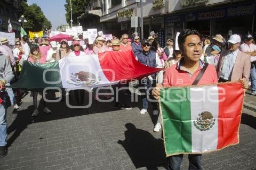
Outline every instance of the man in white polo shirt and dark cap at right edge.
[[253, 43], [253, 36], [245, 35], [240, 50], [251, 56], [251, 94], [256, 95], [256, 45]]

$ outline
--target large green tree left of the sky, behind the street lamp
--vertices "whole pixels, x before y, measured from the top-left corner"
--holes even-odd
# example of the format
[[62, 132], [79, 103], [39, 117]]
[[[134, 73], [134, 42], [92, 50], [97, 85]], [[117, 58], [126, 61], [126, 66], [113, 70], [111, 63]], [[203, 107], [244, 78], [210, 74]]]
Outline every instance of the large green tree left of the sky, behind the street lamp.
[[27, 20], [27, 23], [24, 23], [24, 29], [26, 31], [42, 31], [45, 29], [51, 29], [51, 22], [45, 17], [41, 8], [36, 5], [28, 5], [25, 1], [21, 1], [21, 14]]

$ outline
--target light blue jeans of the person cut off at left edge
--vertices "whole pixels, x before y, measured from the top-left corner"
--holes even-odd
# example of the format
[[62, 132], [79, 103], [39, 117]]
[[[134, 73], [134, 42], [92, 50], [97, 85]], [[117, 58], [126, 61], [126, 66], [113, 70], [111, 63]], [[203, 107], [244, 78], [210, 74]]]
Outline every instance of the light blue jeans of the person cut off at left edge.
[[3, 103], [0, 104], [0, 146], [6, 146], [6, 138], [7, 138], [7, 122], [6, 122], [6, 112], [7, 107], [5, 103], [5, 93], [1, 93], [1, 99]]

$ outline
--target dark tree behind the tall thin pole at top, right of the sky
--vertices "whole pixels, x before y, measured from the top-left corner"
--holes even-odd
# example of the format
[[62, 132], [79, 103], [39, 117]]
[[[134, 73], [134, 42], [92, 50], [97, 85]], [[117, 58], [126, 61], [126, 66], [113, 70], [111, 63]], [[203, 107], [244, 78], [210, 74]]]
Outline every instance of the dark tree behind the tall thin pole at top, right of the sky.
[[[72, 1], [72, 20], [73, 25], [78, 25], [77, 17], [85, 12], [84, 7], [86, 3], [84, 0], [71, 0]], [[66, 20], [69, 25], [71, 25], [70, 18], [70, 0], [66, 0], [66, 4], [64, 5], [66, 9]]]

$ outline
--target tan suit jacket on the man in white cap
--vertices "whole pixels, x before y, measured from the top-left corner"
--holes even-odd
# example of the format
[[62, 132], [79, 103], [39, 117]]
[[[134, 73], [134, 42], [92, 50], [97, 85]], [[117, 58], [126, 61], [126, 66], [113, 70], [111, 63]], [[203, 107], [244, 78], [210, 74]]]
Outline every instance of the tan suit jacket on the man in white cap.
[[[220, 78], [220, 72], [223, 66], [223, 59], [228, 54], [229, 50], [224, 50], [220, 54], [220, 59], [217, 64], [217, 76]], [[238, 54], [236, 57], [236, 61], [231, 73], [231, 81], [237, 81], [240, 78], [246, 78], [247, 80], [250, 77], [250, 68], [251, 68], [251, 56], [249, 54], [246, 54], [240, 50], [238, 50]]]

